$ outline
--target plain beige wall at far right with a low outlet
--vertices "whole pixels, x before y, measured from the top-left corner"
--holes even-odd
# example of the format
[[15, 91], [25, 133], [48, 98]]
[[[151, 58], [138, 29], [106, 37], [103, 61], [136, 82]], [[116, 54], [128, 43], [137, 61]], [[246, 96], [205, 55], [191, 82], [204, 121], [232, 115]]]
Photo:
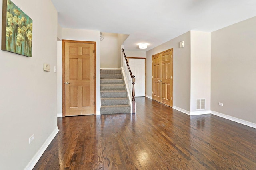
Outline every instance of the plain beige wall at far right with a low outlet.
[[256, 123], [256, 17], [212, 32], [211, 44], [211, 110]]

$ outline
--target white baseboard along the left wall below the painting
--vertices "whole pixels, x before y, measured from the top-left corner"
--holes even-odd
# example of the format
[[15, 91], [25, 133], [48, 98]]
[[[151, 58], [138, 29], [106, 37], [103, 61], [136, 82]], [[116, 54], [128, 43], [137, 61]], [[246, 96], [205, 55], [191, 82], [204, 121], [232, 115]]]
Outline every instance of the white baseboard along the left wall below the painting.
[[57, 135], [58, 131], [60, 130], [57, 126], [56, 129], [54, 129], [54, 131], [52, 132], [52, 134], [46, 139], [46, 141], [44, 142], [42, 147], [38, 150], [38, 152], [36, 152], [35, 156], [32, 158], [32, 160], [30, 160], [30, 162], [28, 163], [28, 165], [24, 170], [32, 170], [34, 168], [34, 166], [36, 165], [36, 163], [38, 162], [38, 160], [40, 159], [40, 157], [42, 156], [46, 148], [50, 145], [54, 137]]

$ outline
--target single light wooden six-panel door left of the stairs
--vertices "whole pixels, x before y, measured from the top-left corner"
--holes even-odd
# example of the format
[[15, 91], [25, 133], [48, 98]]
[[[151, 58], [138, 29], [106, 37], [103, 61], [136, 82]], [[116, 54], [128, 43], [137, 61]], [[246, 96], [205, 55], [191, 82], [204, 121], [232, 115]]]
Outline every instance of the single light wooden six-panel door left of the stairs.
[[95, 42], [63, 41], [64, 116], [95, 114]]

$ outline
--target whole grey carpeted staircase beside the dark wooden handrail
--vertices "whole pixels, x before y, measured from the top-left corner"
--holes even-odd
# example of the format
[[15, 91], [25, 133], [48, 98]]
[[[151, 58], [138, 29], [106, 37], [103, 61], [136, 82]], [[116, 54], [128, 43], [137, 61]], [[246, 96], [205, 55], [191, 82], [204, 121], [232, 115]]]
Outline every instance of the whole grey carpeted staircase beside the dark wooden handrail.
[[100, 70], [100, 114], [130, 113], [121, 70]]

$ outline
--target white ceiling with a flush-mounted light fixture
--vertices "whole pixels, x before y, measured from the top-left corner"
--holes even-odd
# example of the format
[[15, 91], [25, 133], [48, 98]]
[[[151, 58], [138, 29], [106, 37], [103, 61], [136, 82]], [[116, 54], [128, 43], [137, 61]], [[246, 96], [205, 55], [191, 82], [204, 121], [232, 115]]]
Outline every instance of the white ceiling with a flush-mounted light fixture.
[[[212, 32], [256, 16], [256, 0], [52, 0], [64, 28], [129, 34], [148, 51], [187, 31]], [[138, 43], [148, 43], [138, 49]]]

